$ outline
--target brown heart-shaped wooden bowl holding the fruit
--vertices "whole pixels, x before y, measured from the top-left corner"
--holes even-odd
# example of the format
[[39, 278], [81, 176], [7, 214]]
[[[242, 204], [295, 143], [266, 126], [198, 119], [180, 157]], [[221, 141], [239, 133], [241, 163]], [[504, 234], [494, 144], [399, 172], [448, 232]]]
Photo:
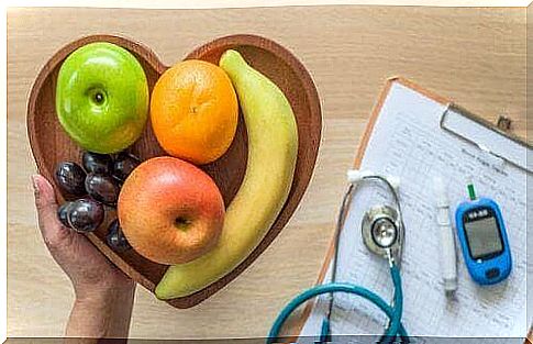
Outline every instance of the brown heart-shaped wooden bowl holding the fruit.
[[[79, 163], [81, 155], [80, 148], [63, 131], [55, 111], [55, 88], [59, 67], [76, 48], [101, 41], [118, 44], [135, 55], [146, 73], [151, 92], [158, 77], [168, 68], [149, 48], [113, 35], [87, 36], [71, 42], [57, 52], [38, 74], [27, 104], [27, 133], [32, 152], [38, 171], [51, 181], [54, 181], [53, 175], [58, 163], [64, 160]], [[295, 179], [281, 213], [256, 249], [238, 267], [220, 280], [191, 296], [168, 301], [177, 308], [192, 307], [223, 288], [273, 242], [295, 212], [306, 191], [313, 173], [320, 144], [322, 116], [314, 84], [302, 64], [279, 44], [255, 35], [232, 35], [202, 45], [186, 58], [204, 59], [218, 64], [221, 54], [229, 48], [241, 52], [254, 68], [276, 82], [289, 99], [299, 133]], [[238, 190], [246, 169], [246, 127], [242, 114], [240, 114], [237, 133], [230, 149], [216, 162], [200, 166], [214, 179], [226, 206]], [[142, 137], [129, 151], [142, 159], [166, 155], [158, 145], [149, 123]], [[59, 189], [56, 188], [56, 190]], [[57, 198], [59, 201], [65, 199], [59, 191], [57, 191]], [[111, 251], [106, 244], [106, 234], [109, 222], [116, 215], [114, 210], [107, 210], [106, 223], [87, 236], [112, 263], [153, 292], [168, 266], [145, 259], [133, 249], [120, 254]]]

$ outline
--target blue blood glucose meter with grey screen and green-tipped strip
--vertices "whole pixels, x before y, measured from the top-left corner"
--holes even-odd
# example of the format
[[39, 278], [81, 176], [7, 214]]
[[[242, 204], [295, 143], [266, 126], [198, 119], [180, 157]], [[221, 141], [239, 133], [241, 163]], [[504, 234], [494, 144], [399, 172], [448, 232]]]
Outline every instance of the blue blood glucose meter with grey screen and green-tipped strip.
[[512, 268], [511, 249], [500, 207], [489, 199], [475, 196], [468, 186], [470, 200], [455, 212], [457, 235], [468, 273], [479, 285], [504, 280]]

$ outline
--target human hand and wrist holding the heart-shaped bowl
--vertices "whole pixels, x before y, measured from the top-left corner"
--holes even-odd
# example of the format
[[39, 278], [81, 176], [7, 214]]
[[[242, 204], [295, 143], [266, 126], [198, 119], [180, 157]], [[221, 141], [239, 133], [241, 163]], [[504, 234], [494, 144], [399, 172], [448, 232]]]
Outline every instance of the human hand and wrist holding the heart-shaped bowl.
[[71, 280], [76, 295], [66, 335], [126, 337], [135, 284], [84, 234], [60, 223], [54, 189], [48, 180], [36, 175], [32, 181], [44, 242]]

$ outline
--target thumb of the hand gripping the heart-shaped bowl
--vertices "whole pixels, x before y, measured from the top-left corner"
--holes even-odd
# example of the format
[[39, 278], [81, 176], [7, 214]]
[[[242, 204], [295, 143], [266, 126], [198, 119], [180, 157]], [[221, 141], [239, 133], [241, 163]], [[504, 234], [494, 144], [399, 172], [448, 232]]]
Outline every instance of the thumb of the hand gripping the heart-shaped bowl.
[[48, 247], [55, 247], [69, 238], [71, 232], [57, 218], [57, 202], [54, 188], [41, 175], [32, 177], [37, 208], [38, 228]]

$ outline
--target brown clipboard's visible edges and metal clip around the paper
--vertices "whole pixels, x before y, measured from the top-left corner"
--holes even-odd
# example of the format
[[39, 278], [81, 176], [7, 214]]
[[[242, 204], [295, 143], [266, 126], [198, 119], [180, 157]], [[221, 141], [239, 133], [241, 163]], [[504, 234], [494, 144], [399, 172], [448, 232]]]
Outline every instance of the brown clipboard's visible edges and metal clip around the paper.
[[[424, 89], [421, 86], [419, 86], [418, 84], [415, 84], [411, 80], [408, 80], [406, 78], [402, 78], [402, 77], [392, 77], [392, 78], [387, 80], [387, 84], [386, 84], [384, 90], [381, 91], [376, 106], [374, 107], [374, 109], [371, 111], [367, 127], [366, 127], [366, 130], [365, 130], [365, 132], [364, 132], [364, 134], [360, 138], [359, 146], [358, 146], [357, 154], [356, 154], [355, 162], [354, 162], [354, 168], [358, 169], [362, 166], [363, 158], [365, 156], [365, 152], [366, 152], [366, 148], [367, 148], [368, 143], [370, 141], [370, 137], [374, 133], [376, 122], [377, 122], [378, 116], [381, 112], [381, 109], [384, 108], [384, 104], [387, 100], [387, 97], [388, 97], [388, 95], [389, 95], [389, 92], [390, 92], [390, 90], [391, 90], [391, 88], [395, 84], [400, 84], [400, 85], [402, 85], [402, 86], [404, 86], [409, 89], [417, 91], [418, 93], [426, 97], [430, 100], [433, 100], [433, 101], [435, 101], [435, 102], [437, 102], [442, 106], [445, 106], [446, 110], [442, 114], [441, 122], [440, 122], [440, 126], [443, 131], [448, 132], [451, 135], [454, 135], [458, 140], [467, 142], [467, 143], [469, 143], [474, 146], [477, 146], [478, 149], [481, 149], [482, 152], [491, 155], [495, 159], [501, 160], [502, 164], [510, 164], [510, 165], [513, 165], [513, 166], [520, 168], [521, 170], [523, 170], [526, 174], [528, 178], [533, 174], [532, 166], [528, 162], [528, 157], [524, 157], [524, 159], [519, 159], [519, 160], [517, 160], [515, 157], [509, 158], [506, 154], [498, 152], [497, 148], [487, 146], [482, 142], [480, 143], [480, 142], [456, 131], [453, 127], [453, 125], [449, 125], [448, 120], [451, 118], [451, 113], [458, 113], [462, 116], [464, 116], [464, 119], [466, 119], [468, 121], [473, 121], [473, 123], [475, 123], [476, 125], [480, 125], [485, 130], [488, 129], [488, 130], [501, 135], [501, 137], [503, 137], [504, 140], [510, 140], [512, 142], [517, 143], [518, 145], [520, 145], [521, 147], [528, 148], [529, 151], [533, 149], [533, 147], [530, 144], [528, 144], [525, 141], [523, 141], [520, 137], [509, 133], [508, 131], [504, 131], [504, 130], [493, 125], [492, 123], [473, 114], [471, 112], [467, 111], [466, 109], [460, 108], [459, 106], [455, 104], [451, 99], [447, 99], [447, 98], [442, 97], [442, 96], [440, 96], [440, 95], [437, 95], [433, 91]], [[334, 254], [334, 240], [331, 241], [330, 246], [327, 248], [324, 263], [323, 263], [322, 268], [319, 273], [317, 285], [322, 284], [324, 281], [326, 274], [327, 274], [330, 263], [331, 263], [332, 257], [333, 257], [333, 254]], [[303, 326], [304, 326], [306, 322], [308, 321], [308, 319], [309, 319], [309, 317], [312, 312], [313, 306], [314, 306], [314, 302], [312, 300], [309, 301], [304, 306], [300, 318], [298, 320], [296, 320], [296, 322], [292, 324], [292, 326], [291, 326], [292, 331], [291, 332], [296, 333], [296, 334], [287, 337], [291, 343], [297, 342], [298, 337], [301, 335]], [[530, 330], [530, 334], [531, 334], [531, 332], [532, 332], [532, 330]], [[525, 335], [528, 335], [528, 334], [525, 334]], [[525, 339], [524, 343], [529, 343], [528, 339], [526, 337], [524, 337], [524, 339]]]

